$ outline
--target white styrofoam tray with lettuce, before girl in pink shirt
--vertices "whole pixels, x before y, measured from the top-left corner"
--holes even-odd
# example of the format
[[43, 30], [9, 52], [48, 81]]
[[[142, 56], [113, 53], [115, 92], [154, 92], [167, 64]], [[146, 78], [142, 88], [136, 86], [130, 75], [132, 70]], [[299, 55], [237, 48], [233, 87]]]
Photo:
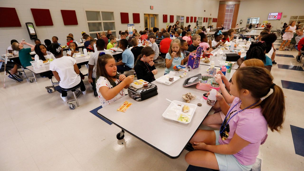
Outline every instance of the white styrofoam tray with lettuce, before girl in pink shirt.
[[[174, 120], [174, 121], [180, 122], [182, 124], [189, 124], [192, 120], [192, 117], [193, 117], [194, 113], [195, 113], [196, 105], [191, 104], [191, 103], [180, 102], [180, 101], [177, 101], [177, 100], [173, 100], [172, 102], [173, 103], [171, 103], [168, 106], [168, 108], [164, 111], [162, 116], [164, 118], [168, 119], [168, 120]], [[176, 105], [174, 105], [174, 103], [176, 105], [181, 105], [181, 106], [176, 107]], [[183, 112], [184, 105], [187, 105], [190, 108], [187, 113]], [[174, 110], [176, 113], [175, 114], [170, 113], [171, 110]], [[189, 117], [188, 122], [182, 122], [182, 121], [178, 120], [178, 118], [181, 114], [183, 114], [184, 116]]]

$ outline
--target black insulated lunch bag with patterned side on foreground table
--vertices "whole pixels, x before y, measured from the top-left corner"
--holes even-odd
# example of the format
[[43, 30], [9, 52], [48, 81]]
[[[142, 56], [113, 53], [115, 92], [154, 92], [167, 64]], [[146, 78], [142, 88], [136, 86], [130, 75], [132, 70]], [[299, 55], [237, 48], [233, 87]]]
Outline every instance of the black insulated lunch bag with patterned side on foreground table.
[[148, 83], [148, 86], [144, 86], [139, 89], [130, 86], [128, 87], [128, 93], [129, 96], [136, 101], [149, 99], [150, 97], [156, 96], [158, 94], [157, 86], [152, 83]]

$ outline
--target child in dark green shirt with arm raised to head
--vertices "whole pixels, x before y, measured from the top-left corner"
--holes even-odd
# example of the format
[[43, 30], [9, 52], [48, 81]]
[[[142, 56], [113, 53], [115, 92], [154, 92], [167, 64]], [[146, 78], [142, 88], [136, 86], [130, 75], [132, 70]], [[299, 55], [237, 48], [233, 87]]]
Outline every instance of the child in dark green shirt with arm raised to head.
[[[24, 44], [30, 46], [30, 48], [24, 48]], [[19, 60], [23, 67], [31, 65], [30, 61], [33, 61], [34, 58], [32, 58], [29, 53], [35, 49], [34, 45], [26, 43], [22, 40], [21, 43], [14, 42], [12, 44], [12, 49], [14, 51], [19, 51]]]

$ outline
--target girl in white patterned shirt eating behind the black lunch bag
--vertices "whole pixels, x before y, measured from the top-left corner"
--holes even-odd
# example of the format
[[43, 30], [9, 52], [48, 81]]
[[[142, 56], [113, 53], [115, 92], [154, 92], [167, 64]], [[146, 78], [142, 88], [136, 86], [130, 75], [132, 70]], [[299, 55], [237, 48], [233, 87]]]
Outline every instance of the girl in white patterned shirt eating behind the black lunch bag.
[[126, 89], [133, 82], [134, 75], [118, 75], [115, 59], [100, 52], [96, 67], [96, 90], [102, 107], [125, 96]]

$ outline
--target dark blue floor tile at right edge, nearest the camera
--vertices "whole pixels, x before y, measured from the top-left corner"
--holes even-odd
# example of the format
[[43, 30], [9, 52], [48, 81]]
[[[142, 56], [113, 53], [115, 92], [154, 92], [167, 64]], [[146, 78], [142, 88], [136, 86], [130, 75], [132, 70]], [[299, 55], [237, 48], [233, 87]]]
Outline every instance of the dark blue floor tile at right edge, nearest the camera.
[[304, 129], [290, 125], [293, 145], [295, 146], [295, 154], [304, 157]]

